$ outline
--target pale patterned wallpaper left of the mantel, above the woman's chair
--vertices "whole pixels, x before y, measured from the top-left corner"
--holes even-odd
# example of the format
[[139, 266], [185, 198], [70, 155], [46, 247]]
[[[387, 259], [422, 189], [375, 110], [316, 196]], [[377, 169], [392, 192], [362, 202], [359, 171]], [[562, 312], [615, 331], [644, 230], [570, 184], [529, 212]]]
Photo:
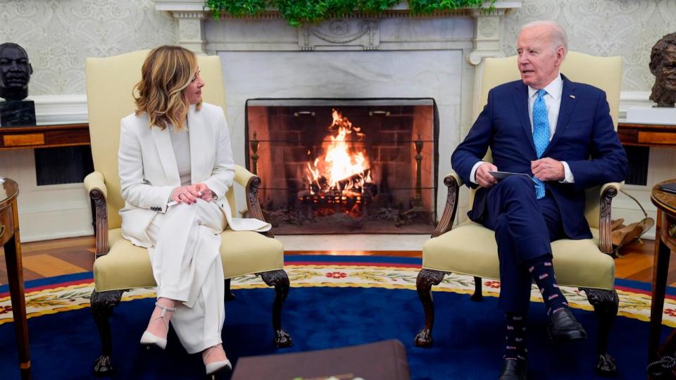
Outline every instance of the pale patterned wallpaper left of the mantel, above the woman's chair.
[[151, 0], [0, 0], [0, 43], [28, 52], [30, 95], [84, 94], [84, 58], [176, 39], [177, 24]]

